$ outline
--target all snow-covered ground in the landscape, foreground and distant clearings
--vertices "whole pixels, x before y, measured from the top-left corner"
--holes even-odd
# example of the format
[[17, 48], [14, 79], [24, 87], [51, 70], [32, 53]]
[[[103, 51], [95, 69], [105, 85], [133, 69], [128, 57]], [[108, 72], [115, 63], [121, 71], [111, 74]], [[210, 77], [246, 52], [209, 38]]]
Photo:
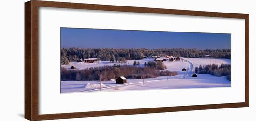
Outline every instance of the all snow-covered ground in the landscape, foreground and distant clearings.
[[[153, 58], [136, 60], [140, 66], [145, 62], [153, 61]], [[117, 63], [120, 65], [133, 65], [135, 60], [128, 60], [127, 63]], [[180, 89], [180, 88], [207, 88], [207, 87], [230, 87], [231, 82], [226, 77], [216, 77], [209, 74], [198, 74], [198, 77], [191, 77], [193, 69], [199, 65], [206, 64], [230, 64], [230, 59], [202, 59], [184, 58], [182, 61], [164, 61], [169, 71], [177, 71], [176, 76], [161, 76], [157, 78], [127, 79], [126, 84], [115, 84], [115, 81], [101, 81], [101, 91], [120, 91], [120, 90], [144, 90], [144, 89]], [[68, 65], [61, 65], [67, 69], [74, 65], [77, 69], [86, 69], [97, 66], [113, 66], [115, 63], [101, 61], [96, 63], [71, 62]], [[187, 71], [181, 71], [186, 68]], [[61, 81], [61, 93], [68, 92], [87, 92], [100, 91], [99, 81]]]

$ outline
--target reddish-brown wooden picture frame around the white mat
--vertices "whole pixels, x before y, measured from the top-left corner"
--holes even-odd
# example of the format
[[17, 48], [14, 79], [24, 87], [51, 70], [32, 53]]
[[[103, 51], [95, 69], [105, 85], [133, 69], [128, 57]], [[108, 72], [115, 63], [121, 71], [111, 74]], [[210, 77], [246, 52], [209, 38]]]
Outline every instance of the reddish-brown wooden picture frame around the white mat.
[[[89, 9], [103, 11], [119, 11], [119, 12], [135, 12], [135, 13], [159, 13], [189, 16], [205, 16], [205, 17], [222, 17], [245, 19], [245, 102], [241, 103], [225, 103], [225, 104], [209, 104], [209, 105], [191, 105], [177, 107], [158, 107], [158, 108], [137, 108], [137, 109], [121, 109], [107, 111], [91, 111], [91, 112], [74, 112], [61, 114], [45, 114], [39, 115], [39, 51], [38, 51], [38, 30], [39, 30], [39, 7], [56, 7], [56, 8], [73, 8], [73, 9]], [[65, 3], [50, 1], [28, 1], [25, 3], [25, 118], [31, 121], [95, 117], [108, 115], [132, 115], [145, 113], [160, 113], [202, 109], [217, 108], [237, 108], [249, 107], [249, 14], [237, 13], [216, 13], [202, 11], [173, 10], [160, 8], [144, 8], [131, 6], [109, 6], [94, 5], [81, 3]]]

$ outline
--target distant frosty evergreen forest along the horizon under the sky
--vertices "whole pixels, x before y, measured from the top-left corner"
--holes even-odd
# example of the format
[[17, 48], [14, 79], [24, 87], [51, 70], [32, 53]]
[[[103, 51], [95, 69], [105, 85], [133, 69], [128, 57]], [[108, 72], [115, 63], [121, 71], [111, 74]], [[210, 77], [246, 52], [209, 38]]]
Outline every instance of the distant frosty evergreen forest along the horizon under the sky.
[[172, 55], [175, 57], [202, 58], [209, 55], [211, 58], [230, 58], [231, 49], [115, 49], [115, 48], [61, 48], [61, 64], [77, 59], [100, 58], [103, 61], [142, 59], [144, 56]]

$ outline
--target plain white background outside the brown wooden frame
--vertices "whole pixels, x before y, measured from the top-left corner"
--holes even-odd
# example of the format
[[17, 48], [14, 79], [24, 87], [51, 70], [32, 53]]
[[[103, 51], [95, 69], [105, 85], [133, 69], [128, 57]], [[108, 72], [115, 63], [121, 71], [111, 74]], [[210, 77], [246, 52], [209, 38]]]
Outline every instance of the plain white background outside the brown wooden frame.
[[[24, 119], [24, 2], [5, 0], [0, 7], [0, 121]], [[52, 0], [56, 1], [56, 0]], [[255, 121], [256, 116], [256, 8], [253, 0], [57, 0], [91, 4], [140, 6], [250, 14], [250, 107], [121, 115], [58, 121]]]

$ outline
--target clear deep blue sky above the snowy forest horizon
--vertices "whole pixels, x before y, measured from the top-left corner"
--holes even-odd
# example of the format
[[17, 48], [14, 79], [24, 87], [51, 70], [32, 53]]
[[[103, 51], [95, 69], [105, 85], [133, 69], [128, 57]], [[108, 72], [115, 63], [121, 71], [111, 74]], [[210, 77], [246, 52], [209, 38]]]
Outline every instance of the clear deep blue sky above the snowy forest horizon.
[[231, 34], [61, 28], [61, 48], [230, 49]]

